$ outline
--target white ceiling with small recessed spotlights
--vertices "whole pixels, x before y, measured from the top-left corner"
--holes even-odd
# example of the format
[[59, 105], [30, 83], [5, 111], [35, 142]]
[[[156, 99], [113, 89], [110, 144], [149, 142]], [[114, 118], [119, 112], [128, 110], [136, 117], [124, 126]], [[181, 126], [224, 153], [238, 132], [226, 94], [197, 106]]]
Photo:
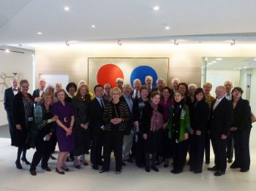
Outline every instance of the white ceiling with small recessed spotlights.
[[118, 39], [256, 43], [255, 0], [0, 0], [0, 4], [0, 46], [33, 50], [29, 45]]

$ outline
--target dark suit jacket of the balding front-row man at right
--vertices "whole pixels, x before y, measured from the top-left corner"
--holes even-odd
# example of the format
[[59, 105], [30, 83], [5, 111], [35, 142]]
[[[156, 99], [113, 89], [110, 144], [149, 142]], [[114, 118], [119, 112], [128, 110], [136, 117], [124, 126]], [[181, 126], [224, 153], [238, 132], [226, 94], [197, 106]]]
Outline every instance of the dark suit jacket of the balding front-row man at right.
[[227, 100], [227, 98], [222, 98], [218, 106], [213, 110], [214, 104], [217, 100], [213, 101], [211, 104], [211, 135], [221, 136], [226, 135], [229, 132], [231, 123], [233, 121], [233, 104]]

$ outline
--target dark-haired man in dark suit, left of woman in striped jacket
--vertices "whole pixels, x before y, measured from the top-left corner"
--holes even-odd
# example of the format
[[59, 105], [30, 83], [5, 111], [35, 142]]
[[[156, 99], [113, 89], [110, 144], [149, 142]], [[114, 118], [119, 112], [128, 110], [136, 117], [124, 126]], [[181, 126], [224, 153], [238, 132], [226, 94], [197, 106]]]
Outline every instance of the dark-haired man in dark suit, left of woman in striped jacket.
[[89, 127], [91, 128], [91, 166], [94, 170], [99, 170], [98, 165], [102, 165], [102, 145], [103, 145], [103, 121], [102, 114], [105, 104], [102, 100], [103, 87], [94, 87], [95, 98], [89, 102]]

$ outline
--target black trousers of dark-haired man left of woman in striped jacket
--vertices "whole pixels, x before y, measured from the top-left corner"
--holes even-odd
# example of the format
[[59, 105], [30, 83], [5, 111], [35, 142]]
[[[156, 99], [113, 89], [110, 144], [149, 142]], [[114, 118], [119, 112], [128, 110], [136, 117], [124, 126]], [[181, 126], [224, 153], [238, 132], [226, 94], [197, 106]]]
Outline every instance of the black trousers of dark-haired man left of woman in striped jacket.
[[99, 165], [102, 163], [103, 130], [91, 132], [91, 163]]

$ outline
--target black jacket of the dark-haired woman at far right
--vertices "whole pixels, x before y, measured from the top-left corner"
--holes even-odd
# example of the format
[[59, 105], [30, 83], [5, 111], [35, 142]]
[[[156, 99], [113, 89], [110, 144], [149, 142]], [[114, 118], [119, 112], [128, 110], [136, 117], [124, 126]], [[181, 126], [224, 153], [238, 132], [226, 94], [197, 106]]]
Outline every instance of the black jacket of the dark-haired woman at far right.
[[252, 128], [251, 122], [251, 107], [249, 101], [240, 98], [234, 108], [234, 117], [231, 127], [236, 127], [238, 130]]

